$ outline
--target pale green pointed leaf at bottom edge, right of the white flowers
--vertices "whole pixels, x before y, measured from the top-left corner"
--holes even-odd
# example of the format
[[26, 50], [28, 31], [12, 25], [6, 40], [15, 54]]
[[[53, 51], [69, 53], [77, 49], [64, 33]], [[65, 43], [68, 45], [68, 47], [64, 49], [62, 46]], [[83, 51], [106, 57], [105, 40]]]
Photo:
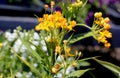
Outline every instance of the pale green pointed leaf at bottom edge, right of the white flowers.
[[67, 78], [69, 78], [69, 77], [77, 77], [77, 78], [78, 78], [78, 77], [81, 77], [84, 73], [86, 73], [86, 72], [89, 71], [89, 70], [92, 70], [92, 68], [91, 68], [91, 69], [74, 71], [74, 72], [70, 73], [70, 74], [67, 76]]

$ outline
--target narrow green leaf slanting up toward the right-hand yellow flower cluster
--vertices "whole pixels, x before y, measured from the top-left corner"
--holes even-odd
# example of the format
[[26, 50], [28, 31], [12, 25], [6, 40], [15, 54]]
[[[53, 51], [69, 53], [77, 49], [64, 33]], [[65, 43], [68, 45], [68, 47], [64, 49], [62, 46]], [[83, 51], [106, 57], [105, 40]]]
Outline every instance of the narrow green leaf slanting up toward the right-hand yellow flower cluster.
[[77, 35], [73, 36], [73, 38], [69, 41], [69, 43], [73, 44], [77, 41], [80, 41], [80, 40], [85, 39], [85, 38], [90, 37], [90, 36], [92, 36], [92, 32], [77, 34]]

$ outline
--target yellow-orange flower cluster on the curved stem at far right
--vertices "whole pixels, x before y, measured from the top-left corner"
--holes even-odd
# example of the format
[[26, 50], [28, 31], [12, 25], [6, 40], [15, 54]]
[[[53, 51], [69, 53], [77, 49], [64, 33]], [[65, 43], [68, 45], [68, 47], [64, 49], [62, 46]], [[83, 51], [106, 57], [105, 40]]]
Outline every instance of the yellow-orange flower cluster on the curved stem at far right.
[[107, 38], [112, 37], [112, 33], [108, 31], [110, 29], [110, 19], [108, 17], [103, 18], [101, 12], [96, 12], [94, 17], [95, 20], [92, 29], [95, 31], [95, 39], [98, 42], [104, 43], [106, 48], [109, 48], [111, 44], [107, 41]]

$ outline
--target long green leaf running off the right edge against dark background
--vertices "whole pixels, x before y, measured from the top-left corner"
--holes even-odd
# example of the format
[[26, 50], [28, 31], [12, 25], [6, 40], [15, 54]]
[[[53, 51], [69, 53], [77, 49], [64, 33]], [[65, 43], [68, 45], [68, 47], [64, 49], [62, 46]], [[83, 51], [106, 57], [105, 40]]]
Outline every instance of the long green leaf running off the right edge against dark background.
[[105, 68], [111, 70], [116, 76], [120, 77], [120, 67], [119, 66], [112, 64], [110, 62], [101, 61], [101, 60], [98, 60], [95, 58], [94, 58], [94, 60], [96, 62], [98, 62], [99, 64], [101, 64], [102, 66], [104, 66]]

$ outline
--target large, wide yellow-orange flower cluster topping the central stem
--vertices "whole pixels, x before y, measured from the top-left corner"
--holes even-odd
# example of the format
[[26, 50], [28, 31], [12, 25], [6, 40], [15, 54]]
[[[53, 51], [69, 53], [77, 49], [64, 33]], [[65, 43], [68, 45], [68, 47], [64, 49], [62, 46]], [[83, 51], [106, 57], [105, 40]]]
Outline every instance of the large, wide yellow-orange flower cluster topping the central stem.
[[73, 30], [73, 27], [76, 26], [76, 21], [68, 21], [66, 18], [63, 17], [61, 12], [56, 11], [53, 14], [44, 14], [43, 18], [38, 18], [38, 21], [40, 22], [36, 27], [35, 30], [46, 30], [46, 31], [52, 31], [56, 28], [63, 28], [67, 30]]

